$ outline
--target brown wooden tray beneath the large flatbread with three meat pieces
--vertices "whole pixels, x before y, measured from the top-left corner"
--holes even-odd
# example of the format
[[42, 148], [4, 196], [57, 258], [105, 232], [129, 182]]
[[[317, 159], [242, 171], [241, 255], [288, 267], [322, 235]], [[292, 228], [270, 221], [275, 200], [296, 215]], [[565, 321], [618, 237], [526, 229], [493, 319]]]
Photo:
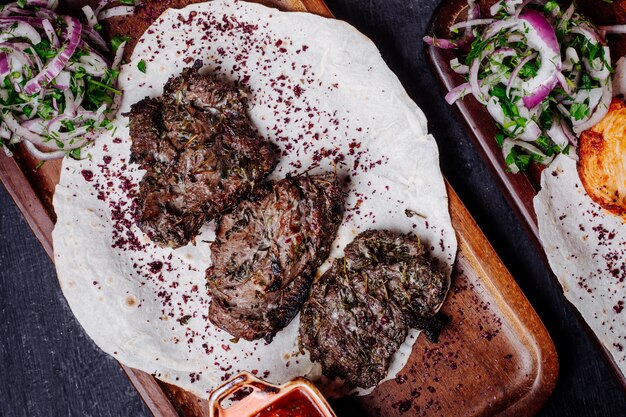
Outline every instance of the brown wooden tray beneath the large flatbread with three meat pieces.
[[[158, 17], [155, 8], [188, 2], [158, 2], [151, 16], [139, 18], [149, 23], [145, 20]], [[332, 17], [321, 0], [262, 3]], [[51, 202], [61, 163], [36, 165], [21, 149], [14, 159], [0, 152], [0, 179], [53, 258]], [[452, 287], [442, 309], [450, 323], [437, 344], [418, 338], [395, 380], [369, 396], [335, 401], [339, 416], [533, 415], [554, 388], [558, 359], [543, 323], [449, 185], [448, 193], [459, 240]], [[204, 399], [145, 372], [122, 368], [155, 416], [208, 415]]]

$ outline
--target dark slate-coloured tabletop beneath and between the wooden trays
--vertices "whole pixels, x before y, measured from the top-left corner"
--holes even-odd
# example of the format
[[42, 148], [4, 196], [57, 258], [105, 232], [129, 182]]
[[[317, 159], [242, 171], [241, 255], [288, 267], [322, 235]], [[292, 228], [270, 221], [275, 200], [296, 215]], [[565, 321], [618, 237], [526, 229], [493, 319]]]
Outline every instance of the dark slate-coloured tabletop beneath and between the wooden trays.
[[[626, 397], [443, 101], [421, 37], [438, 0], [328, 0], [378, 45], [425, 111], [443, 171], [552, 335], [560, 378], [540, 416], [626, 416]], [[0, 416], [147, 416], [117, 363], [87, 338], [53, 266], [0, 187]]]

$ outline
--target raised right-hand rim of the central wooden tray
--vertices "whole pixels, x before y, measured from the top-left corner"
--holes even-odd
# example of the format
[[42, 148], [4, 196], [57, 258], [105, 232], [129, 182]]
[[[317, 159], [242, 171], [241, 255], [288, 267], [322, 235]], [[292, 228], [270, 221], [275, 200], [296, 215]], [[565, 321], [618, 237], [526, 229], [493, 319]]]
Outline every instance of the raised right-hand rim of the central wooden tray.
[[[535, 361], [537, 373], [532, 386], [517, 401], [512, 403], [501, 415], [504, 416], [532, 416], [536, 414], [548, 400], [556, 386], [559, 374], [559, 361], [554, 342], [543, 322], [537, 315], [522, 290], [515, 283], [510, 272], [506, 269], [495, 249], [476, 224], [474, 218], [465, 208], [454, 189], [446, 182], [452, 224], [457, 232], [459, 251], [470, 253], [473, 256], [468, 260], [476, 271], [483, 271], [484, 284], [490, 287], [490, 292], [499, 297], [499, 305], [508, 307], [507, 321], [518, 322], [524, 330], [523, 334], [532, 340], [528, 345], [535, 346]], [[471, 242], [470, 240], [476, 240]], [[478, 263], [476, 260], [491, 259], [490, 262]], [[506, 288], [506, 297], [501, 289]]]

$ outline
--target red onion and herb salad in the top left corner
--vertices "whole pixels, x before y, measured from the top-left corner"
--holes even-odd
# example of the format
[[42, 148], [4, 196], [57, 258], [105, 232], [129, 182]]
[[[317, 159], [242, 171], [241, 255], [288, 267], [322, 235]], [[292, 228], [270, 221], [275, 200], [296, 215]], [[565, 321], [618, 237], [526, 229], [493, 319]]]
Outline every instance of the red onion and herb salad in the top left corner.
[[[0, 6], [0, 146], [44, 161], [81, 151], [112, 126], [125, 39], [102, 38], [99, 19], [132, 13], [134, 0], [83, 8], [86, 23], [55, 12], [58, 0]], [[129, 6], [130, 4], [130, 6]], [[114, 56], [111, 63], [105, 55]]]

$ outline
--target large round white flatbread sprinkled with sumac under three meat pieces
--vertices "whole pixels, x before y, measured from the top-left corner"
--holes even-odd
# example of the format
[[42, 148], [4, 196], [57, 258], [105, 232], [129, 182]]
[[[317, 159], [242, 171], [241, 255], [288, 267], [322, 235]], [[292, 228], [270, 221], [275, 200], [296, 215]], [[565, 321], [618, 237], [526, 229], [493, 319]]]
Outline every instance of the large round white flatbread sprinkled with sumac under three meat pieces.
[[[337, 20], [251, 3], [171, 9], [122, 69], [121, 113], [161, 95], [167, 79], [195, 59], [250, 91], [254, 124], [284, 151], [272, 178], [310, 167], [351, 178], [332, 256], [360, 231], [388, 228], [419, 235], [450, 274], [456, 239], [437, 146], [372, 42]], [[91, 159], [64, 161], [54, 198], [59, 281], [87, 333], [120, 362], [201, 396], [241, 370], [275, 383], [318, 378], [320, 367], [299, 353], [298, 318], [269, 345], [231, 340], [210, 324], [204, 271], [212, 225], [196, 246], [171, 250], [150, 242], [133, 218], [132, 194], [144, 172], [128, 162], [128, 119], [116, 124]], [[406, 209], [424, 217], [409, 218]], [[416, 335], [388, 377], [404, 366]]]

